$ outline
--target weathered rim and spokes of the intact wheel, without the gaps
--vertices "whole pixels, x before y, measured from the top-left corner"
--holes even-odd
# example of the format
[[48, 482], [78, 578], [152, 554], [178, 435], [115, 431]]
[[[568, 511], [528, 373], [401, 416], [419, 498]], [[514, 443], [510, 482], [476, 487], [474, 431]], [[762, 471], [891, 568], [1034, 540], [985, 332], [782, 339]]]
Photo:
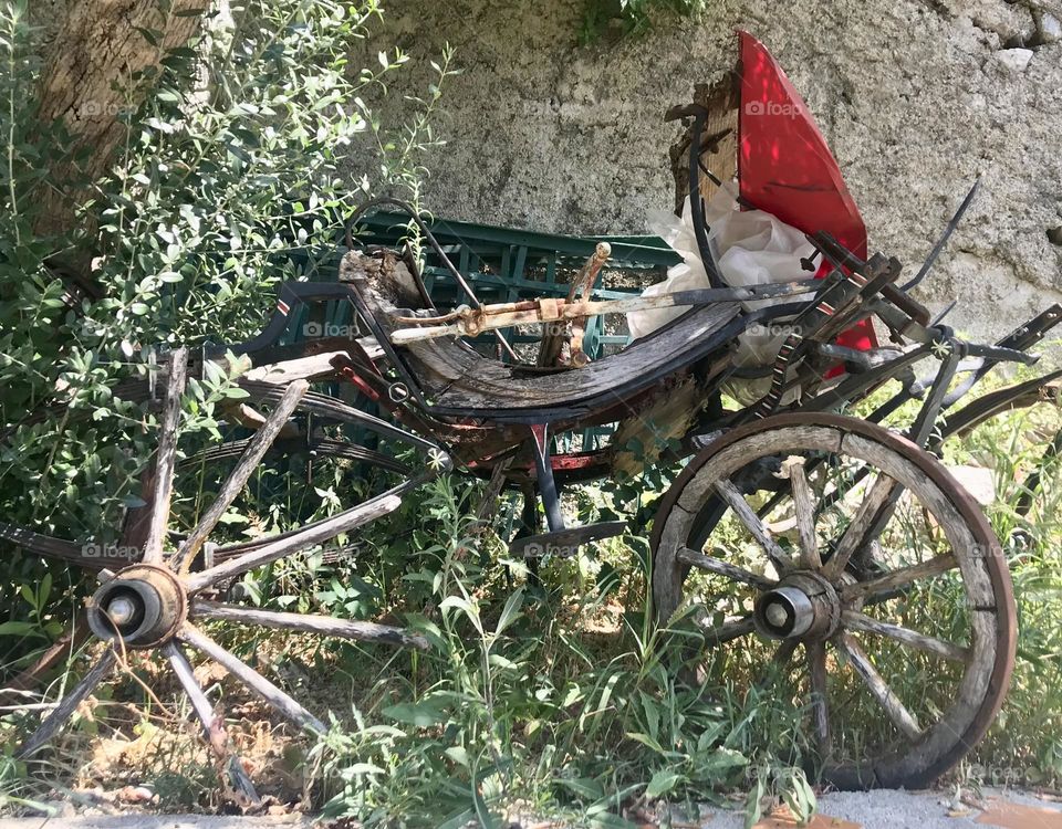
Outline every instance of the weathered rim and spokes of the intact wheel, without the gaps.
[[[784, 555], [789, 558], [781, 560], [781, 547], [766, 531], [763, 523], [757, 526], [759, 518], [754, 508], [742, 510], [735, 500], [736, 496], [748, 504], [746, 495], [732, 485], [731, 476], [746, 474], [757, 462], [766, 463], [770, 459], [788, 457], [800, 466], [799, 470], [783, 466], [791, 470], [792, 474], [787, 485], [794, 493], [794, 522], [800, 529], [800, 538], [796, 555], [789, 556], [787, 553]], [[833, 552], [846, 546], [847, 527], [853, 527], [852, 542], [847, 546], [865, 549], [884, 537], [882, 533], [894, 513], [888, 508], [887, 500], [875, 500], [873, 485], [867, 484], [862, 495], [856, 493], [852, 499], [854, 502], [858, 502], [860, 497], [864, 502], [873, 502], [874, 506], [853, 506], [854, 511], [870, 515], [866, 523], [861, 525], [857, 514], [856, 520], [841, 525], [836, 537], [820, 549], [816, 521], [820, 521], [824, 502], [809, 505], [811, 487], [808, 474], [813, 469], [808, 461], [810, 457], [850, 459], [853, 463], [873, 468], [878, 473], [877, 479], [881, 479], [882, 497], [900, 493], [893, 496], [894, 504], [907, 499], [905, 503], [914, 502], [922, 511], [919, 514], [931, 515], [933, 526], [939, 528], [941, 543], [950, 552], [918, 565], [925, 568], [923, 575], [916, 575], [918, 570], [910, 566], [861, 574], [854, 566], [855, 558], [851, 557], [851, 552], [850, 557], [842, 556], [831, 563]], [[843, 464], [821, 464], [823, 469]], [[780, 474], [772, 475], [774, 483]], [[743, 480], [748, 489], [747, 474], [745, 479], [737, 480]], [[753, 493], [756, 486], [752, 486]], [[805, 504], [803, 511], [800, 507], [801, 499], [795, 496], [798, 490]], [[843, 500], [843, 496], [834, 501], [837, 500]], [[764, 550], [764, 558], [770, 560], [769, 566], [775, 567], [772, 555], [780, 557], [777, 569], [772, 570], [773, 577], [771, 574], [753, 574], [718, 557], [704, 555], [705, 543], [720, 526], [725, 515], [746, 515], [742, 523], [749, 528], [750, 536], [759, 537], [758, 533], [766, 535], [766, 539], [759, 537], [759, 543]], [[802, 515], [806, 516], [803, 522]], [[881, 518], [883, 515], [888, 517], [883, 520], [885, 524], [878, 526], [874, 517]], [[866, 533], [858, 535], [863, 527], [867, 527]], [[877, 535], [874, 535], [875, 531]], [[774, 550], [773, 554], [769, 547]], [[926, 786], [954, 767], [980, 742], [999, 712], [1010, 683], [1017, 632], [1013, 591], [1002, 550], [974, 499], [936, 458], [898, 434], [854, 418], [821, 413], [778, 416], [735, 429], [690, 461], [667, 492], [654, 522], [652, 548], [652, 589], [659, 625], [667, 627], [677, 623], [684, 608], [688, 609], [694, 601], [695, 587], [689, 584], [689, 574], [710, 570], [711, 578], [733, 579], [736, 587], [760, 594], [756, 609], [750, 606], [747, 617], [709, 629], [706, 651], [725, 648], [727, 646], [722, 642], [727, 641], [741, 648], [742, 642], [748, 642], [746, 637], [763, 639], [770, 636], [781, 639], [774, 661], [788, 663], [796, 648], [803, 647], [806, 657], [803, 681], [809, 689], [818, 689], [805, 701], [811, 703], [806, 717], [808, 732], [812, 735], [809, 742], [814, 741], [820, 748], [820, 762], [815, 769], [824, 783], [843, 789]], [[966, 644], [941, 641], [893, 621], [872, 619], [863, 612], [887, 612], [892, 607], [888, 601], [893, 600], [889, 597], [894, 597], [898, 589], [914, 589], [920, 584], [919, 579], [941, 576], [957, 577], [958, 581], [950, 584], [956, 590], [961, 589], [965, 596], [962, 612], [967, 615], [964, 618], [969, 620]], [[886, 586], [892, 592], [885, 589]], [[791, 631], [783, 634], [781, 629], [767, 629], [762, 607], [775, 600], [785, 600], [787, 591], [801, 601], [805, 598], [804, 594], [814, 600], [830, 594], [826, 598], [834, 604], [830, 606], [822, 598], [822, 609], [816, 606], [813, 611], [806, 611], [811, 621], [802, 618], [810, 626], [808, 632], [798, 634]], [[785, 608], [784, 611], [791, 611], [794, 619], [798, 611], [805, 612], [795, 607]], [[784, 621], [785, 612], [778, 609], [775, 615]], [[837, 618], [831, 618], [831, 613]], [[917, 720], [922, 717], [916, 718], [907, 712], [898, 695], [893, 694], [882, 681], [874, 661], [860, 647], [861, 638], [875, 634], [889, 637], [889, 644], [897, 648], [917, 649], [919, 658], [925, 659], [929, 653], [933, 657], [945, 654], [950, 660], [948, 664], [957, 678], [954, 697], [950, 706], [941, 710], [931, 724], [926, 724], [924, 728], [918, 726]], [[710, 641], [716, 643], [709, 646]], [[827, 647], [835, 653], [832, 669], [827, 668]], [[853, 669], [887, 720], [896, 724], [897, 739], [887, 748], [877, 748], [864, 757], [833, 756], [832, 746], [836, 741], [830, 717], [835, 712], [829, 705], [830, 683], [826, 674], [833, 670], [840, 675], [842, 671]], [[837, 680], [833, 679], [836, 688]]]

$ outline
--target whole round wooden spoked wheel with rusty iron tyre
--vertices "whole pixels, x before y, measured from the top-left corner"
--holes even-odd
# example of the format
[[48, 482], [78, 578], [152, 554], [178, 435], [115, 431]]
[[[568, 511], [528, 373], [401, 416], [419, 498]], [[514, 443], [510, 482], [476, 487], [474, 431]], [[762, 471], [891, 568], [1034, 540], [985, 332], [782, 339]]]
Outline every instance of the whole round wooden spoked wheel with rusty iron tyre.
[[736, 429], [676, 481], [653, 547], [659, 622], [702, 642], [701, 679], [770, 683], [825, 781], [928, 784], [1002, 703], [1017, 620], [999, 543], [935, 458], [881, 427]]

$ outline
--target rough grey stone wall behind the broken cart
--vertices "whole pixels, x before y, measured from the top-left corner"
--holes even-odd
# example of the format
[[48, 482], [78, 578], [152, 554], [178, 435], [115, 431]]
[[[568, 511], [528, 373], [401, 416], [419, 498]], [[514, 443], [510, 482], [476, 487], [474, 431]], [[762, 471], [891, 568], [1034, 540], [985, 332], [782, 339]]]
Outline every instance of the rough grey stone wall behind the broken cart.
[[[1040, 3], [1040, 4], [1034, 4]], [[1062, 9], [1055, 0], [718, 0], [699, 21], [576, 44], [581, 0], [391, 0], [372, 48], [415, 60], [423, 91], [457, 48], [428, 159], [427, 207], [540, 230], [634, 233], [668, 209], [664, 111], [733, 61], [732, 31], [785, 67], [871, 234], [913, 274], [978, 174], [981, 190], [920, 297], [998, 336], [1062, 300]], [[381, 112], [397, 119], [400, 95]]]

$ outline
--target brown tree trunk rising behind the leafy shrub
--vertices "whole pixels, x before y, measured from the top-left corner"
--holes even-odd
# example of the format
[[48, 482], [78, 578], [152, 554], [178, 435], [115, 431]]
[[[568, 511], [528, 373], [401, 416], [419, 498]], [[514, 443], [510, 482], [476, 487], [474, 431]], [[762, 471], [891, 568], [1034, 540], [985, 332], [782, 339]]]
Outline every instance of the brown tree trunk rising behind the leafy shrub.
[[40, 117], [45, 124], [61, 119], [88, 155], [80, 166], [71, 160], [54, 171], [54, 180], [70, 185], [48, 192], [46, 227], [39, 230], [73, 227], [84, 183], [106, 171], [125, 136], [119, 114], [138, 105], [150, 86], [137, 74], [187, 43], [207, 6], [209, 0], [67, 1], [44, 55]]

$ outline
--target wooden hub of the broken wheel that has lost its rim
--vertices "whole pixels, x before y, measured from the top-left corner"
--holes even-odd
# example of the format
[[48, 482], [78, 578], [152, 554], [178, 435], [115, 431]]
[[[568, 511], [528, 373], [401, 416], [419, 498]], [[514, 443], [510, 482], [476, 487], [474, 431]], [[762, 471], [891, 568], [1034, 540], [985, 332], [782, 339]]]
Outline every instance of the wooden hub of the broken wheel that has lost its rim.
[[121, 640], [128, 648], [156, 648], [177, 633], [187, 611], [185, 588], [170, 570], [135, 564], [90, 599], [88, 628], [100, 639]]

